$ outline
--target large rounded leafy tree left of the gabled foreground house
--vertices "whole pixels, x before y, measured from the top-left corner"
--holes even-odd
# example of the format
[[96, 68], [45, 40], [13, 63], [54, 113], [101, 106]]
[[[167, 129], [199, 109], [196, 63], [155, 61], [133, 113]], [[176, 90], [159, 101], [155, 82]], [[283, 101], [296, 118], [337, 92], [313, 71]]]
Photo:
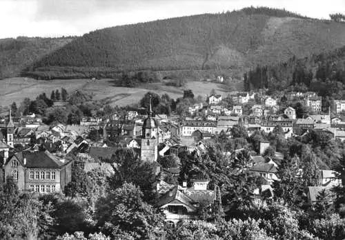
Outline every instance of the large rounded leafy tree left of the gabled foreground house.
[[159, 238], [164, 226], [163, 214], [156, 213], [142, 199], [143, 193], [132, 183], [124, 183], [101, 198], [96, 206], [97, 225], [113, 238], [129, 234], [135, 239]]

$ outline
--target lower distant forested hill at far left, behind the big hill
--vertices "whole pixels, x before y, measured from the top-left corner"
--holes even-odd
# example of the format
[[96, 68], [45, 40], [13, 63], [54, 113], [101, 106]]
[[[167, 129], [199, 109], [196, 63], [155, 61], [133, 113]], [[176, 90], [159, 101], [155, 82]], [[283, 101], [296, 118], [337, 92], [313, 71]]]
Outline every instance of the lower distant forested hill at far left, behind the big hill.
[[0, 79], [20, 74], [23, 68], [65, 46], [72, 39], [73, 37], [0, 39]]

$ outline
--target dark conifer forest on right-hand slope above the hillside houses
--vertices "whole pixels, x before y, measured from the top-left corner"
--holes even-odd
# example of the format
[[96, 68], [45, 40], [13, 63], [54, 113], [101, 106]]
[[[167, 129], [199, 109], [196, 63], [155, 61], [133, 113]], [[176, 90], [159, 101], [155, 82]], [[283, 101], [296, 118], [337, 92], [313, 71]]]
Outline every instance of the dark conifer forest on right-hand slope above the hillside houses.
[[244, 74], [244, 80], [246, 90], [312, 90], [322, 97], [344, 99], [345, 47], [304, 59], [293, 57], [274, 66], [257, 66]]

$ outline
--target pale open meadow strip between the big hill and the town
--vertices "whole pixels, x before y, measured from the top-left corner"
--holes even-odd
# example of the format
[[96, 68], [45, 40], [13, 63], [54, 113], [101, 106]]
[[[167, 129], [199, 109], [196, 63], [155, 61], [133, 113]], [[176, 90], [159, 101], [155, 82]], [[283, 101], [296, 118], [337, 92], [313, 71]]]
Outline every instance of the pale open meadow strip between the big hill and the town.
[[[176, 99], [182, 97], [184, 89], [192, 89], [195, 97], [201, 95], [206, 97], [212, 89], [217, 93], [228, 94], [223, 84], [213, 82], [190, 81], [184, 88], [175, 88], [164, 86], [161, 83], [150, 83], [141, 88], [117, 87], [111, 79], [90, 80], [90, 79], [72, 79], [72, 80], [51, 80], [42, 81], [30, 78], [16, 77], [0, 81], [0, 106], [8, 106], [12, 102], [18, 105], [25, 97], [34, 99], [38, 94], [46, 92], [50, 97], [52, 90], [66, 88], [68, 92], [83, 90], [93, 95], [93, 99], [106, 99], [113, 106], [126, 106], [137, 103], [146, 92], [152, 91], [159, 94], [167, 93], [170, 97]], [[236, 83], [233, 86], [236, 90], [242, 90], [243, 84]]]

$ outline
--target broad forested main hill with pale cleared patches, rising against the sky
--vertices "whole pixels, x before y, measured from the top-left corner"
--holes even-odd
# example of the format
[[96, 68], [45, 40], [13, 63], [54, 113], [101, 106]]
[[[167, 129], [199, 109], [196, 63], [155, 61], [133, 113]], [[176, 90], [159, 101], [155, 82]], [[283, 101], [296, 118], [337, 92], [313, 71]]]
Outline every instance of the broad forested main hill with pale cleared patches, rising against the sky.
[[244, 8], [96, 30], [22, 72], [37, 79], [112, 77], [124, 70], [246, 70], [345, 45], [345, 25]]

